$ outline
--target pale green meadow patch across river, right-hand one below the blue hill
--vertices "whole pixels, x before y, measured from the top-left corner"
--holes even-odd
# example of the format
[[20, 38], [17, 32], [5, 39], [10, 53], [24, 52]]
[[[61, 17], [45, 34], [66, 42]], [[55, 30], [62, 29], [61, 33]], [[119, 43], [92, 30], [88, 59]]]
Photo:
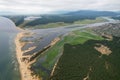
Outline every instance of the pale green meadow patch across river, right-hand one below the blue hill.
[[102, 18], [102, 17], [98, 17], [96, 19], [90, 20], [90, 19], [85, 19], [85, 20], [79, 20], [79, 21], [75, 21], [74, 24], [92, 24], [92, 23], [99, 23], [99, 22], [106, 22], [108, 20]]

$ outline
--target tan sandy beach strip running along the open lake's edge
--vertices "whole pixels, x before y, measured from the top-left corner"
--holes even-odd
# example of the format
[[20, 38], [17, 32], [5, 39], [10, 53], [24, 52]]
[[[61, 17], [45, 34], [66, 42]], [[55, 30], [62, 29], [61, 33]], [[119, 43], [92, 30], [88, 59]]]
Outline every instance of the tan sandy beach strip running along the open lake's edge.
[[22, 61], [22, 59], [25, 57], [23, 56], [23, 51], [21, 48], [25, 45], [24, 43], [20, 42], [20, 39], [24, 36], [24, 32], [20, 32], [17, 34], [16, 39], [15, 39], [15, 44], [16, 44], [16, 56], [18, 59], [19, 63], [19, 70], [21, 73], [21, 79], [22, 80], [41, 80], [37, 76], [32, 75], [32, 71], [29, 69], [31, 63], [27, 63], [25, 61]]

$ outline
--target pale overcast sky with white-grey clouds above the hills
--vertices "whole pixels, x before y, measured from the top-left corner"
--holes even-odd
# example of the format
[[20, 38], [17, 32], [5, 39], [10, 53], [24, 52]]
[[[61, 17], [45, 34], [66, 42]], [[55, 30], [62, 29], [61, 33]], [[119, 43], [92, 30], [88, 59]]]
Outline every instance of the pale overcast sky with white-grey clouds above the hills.
[[54, 11], [120, 11], [119, 0], [0, 0], [0, 13], [44, 14]]

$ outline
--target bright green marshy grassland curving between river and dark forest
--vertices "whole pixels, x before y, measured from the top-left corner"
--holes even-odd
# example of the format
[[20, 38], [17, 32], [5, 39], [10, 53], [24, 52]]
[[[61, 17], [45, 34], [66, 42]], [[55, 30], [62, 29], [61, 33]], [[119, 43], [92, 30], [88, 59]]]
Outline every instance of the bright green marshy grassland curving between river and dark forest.
[[61, 40], [58, 43], [38, 57], [31, 69], [35, 74], [42, 76], [45, 79], [48, 78], [53, 66], [63, 53], [64, 44], [83, 44], [89, 39], [102, 40], [103, 38], [94, 34], [90, 29], [73, 31], [67, 36], [61, 37]]

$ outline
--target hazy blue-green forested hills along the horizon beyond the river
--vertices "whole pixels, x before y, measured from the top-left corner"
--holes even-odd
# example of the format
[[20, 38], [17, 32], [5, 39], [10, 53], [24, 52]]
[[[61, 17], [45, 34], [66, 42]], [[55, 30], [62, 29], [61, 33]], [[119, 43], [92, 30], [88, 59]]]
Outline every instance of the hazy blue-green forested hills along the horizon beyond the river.
[[36, 27], [36, 26], [46, 26], [51, 23], [55, 23], [56, 27], [61, 26], [59, 23], [62, 23], [62, 26], [73, 24], [76, 21], [82, 21], [85, 19], [93, 20], [97, 17], [103, 17], [103, 16], [109, 16], [109, 17], [116, 17], [117, 15], [120, 15], [117, 12], [111, 12], [111, 11], [90, 11], [90, 10], [80, 10], [80, 11], [74, 11], [74, 12], [68, 12], [65, 14], [49, 14], [49, 15], [32, 15], [37, 16], [40, 18], [36, 18], [34, 20], [25, 20], [26, 17], [29, 17], [31, 15], [26, 16], [6, 16], [13, 20], [15, 24], [19, 27]]

